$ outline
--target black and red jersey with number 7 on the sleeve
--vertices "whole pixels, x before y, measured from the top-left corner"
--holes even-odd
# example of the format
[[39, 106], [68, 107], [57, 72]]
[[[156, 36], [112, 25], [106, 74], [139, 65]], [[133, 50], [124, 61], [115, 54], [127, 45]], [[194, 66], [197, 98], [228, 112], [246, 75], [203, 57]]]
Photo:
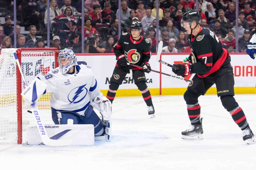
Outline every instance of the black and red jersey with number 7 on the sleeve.
[[228, 58], [228, 51], [222, 48], [218, 37], [207, 28], [200, 28], [196, 36], [189, 37], [191, 54], [187, 62], [191, 65], [190, 73], [196, 73], [203, 78], [220, 69]]

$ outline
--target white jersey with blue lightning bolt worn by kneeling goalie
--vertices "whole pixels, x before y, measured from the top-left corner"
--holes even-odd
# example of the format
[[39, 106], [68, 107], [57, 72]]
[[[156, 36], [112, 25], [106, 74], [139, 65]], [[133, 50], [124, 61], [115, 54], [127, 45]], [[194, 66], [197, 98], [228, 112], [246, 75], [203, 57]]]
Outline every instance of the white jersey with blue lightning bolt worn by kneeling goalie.
[[76, 65], [75, 67], [76, 74], [61, 74], [60, 68], [56, 68], [37, 78], [47, 84], [44, 93], [51, 92], [50, 103], [53, 109], [84, 115], [85, 109], [100, 93], [100, 89], [90, 66]]

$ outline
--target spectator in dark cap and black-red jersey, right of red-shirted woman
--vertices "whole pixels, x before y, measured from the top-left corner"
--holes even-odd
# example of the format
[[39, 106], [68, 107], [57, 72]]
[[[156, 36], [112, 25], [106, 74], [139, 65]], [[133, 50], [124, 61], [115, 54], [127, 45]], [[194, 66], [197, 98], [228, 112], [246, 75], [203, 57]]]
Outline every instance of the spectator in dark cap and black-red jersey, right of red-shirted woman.
[[111, 26], [114, 23], [114, 20], [116, 18], [116, 15], [113, 11], [111, 11], [111, 4], [109, 2], [105, 2], [104, 4], [104, 8], [101, 12], [102, 14], [102, 23], [103, 24], [108, 24], [109, 26]]

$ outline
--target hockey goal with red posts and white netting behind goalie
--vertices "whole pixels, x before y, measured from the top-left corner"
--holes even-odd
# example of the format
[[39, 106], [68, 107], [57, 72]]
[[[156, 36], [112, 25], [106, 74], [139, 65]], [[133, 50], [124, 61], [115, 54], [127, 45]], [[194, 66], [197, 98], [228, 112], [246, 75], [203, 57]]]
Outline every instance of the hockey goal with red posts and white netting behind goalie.
[[[57, 48], [5, 48], [0, 55], [0, 144], [25, 142], [28, 125], [35, 125], [20, 93], [25, 88], [16, 66], [13, 53], [17, 54], [27, 83], [58, 67]], [[50, 93], [37, 102], [44, 124], [54, 124], [51, 116]], [[22, 138], [23, 136], [23, 138]]]

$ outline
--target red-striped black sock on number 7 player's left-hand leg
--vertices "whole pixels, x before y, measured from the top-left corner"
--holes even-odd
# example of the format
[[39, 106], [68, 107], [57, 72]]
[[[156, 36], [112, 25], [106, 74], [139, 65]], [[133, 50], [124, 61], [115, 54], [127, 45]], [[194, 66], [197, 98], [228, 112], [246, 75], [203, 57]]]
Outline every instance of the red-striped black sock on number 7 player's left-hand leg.
[[196, 103], [195, 105], [187, 105], [188, 117], [191, 125], [200, 124], [200, 109], [201, 106]]

